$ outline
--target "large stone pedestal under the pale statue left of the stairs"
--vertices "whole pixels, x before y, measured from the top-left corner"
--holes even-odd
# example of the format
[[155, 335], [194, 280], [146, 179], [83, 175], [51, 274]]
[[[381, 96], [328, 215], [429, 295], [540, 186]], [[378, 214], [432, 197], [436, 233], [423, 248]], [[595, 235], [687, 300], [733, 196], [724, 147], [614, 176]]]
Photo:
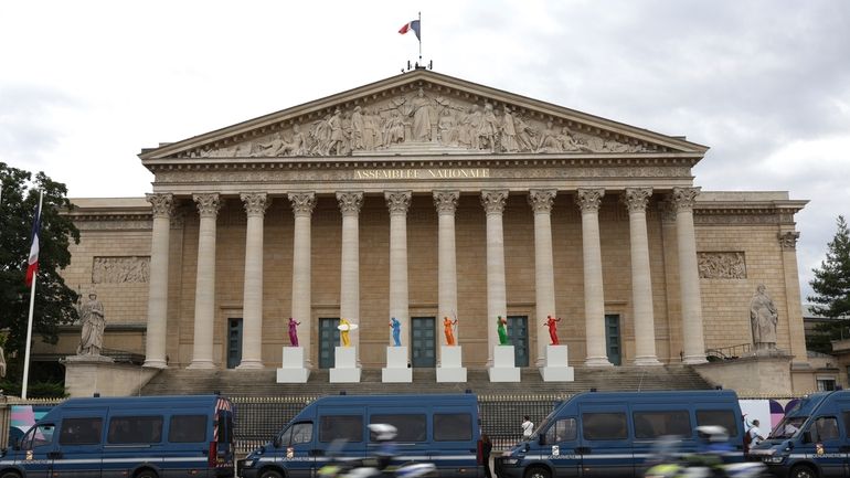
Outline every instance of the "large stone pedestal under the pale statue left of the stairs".
[[65, 390], [72, 397], [135, 395], [160, 369], [129, 363], [115, 363], [103, 355], [68, 355], [65, 365]]

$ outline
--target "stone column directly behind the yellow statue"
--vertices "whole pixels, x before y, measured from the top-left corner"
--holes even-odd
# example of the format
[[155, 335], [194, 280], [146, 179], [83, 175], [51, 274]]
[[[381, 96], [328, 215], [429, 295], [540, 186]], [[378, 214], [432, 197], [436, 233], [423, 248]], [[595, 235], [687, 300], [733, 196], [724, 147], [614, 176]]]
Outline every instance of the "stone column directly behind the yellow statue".
[[[351, 323], [360, 325], [360, 208], [362, 192], [338, 192], [337, 201], [342, 212], [342, 270], [340, 276], [339, 315]], [[350, 334], [351, 347], [360, 362], [360, 331]]]

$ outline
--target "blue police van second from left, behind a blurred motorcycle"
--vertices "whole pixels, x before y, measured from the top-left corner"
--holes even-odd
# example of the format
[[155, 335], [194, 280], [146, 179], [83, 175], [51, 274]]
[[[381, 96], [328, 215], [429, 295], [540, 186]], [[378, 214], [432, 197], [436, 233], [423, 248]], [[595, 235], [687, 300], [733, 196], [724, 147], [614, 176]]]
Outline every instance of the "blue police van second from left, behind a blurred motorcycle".
[[369, 425], [376, 423], [397, 429], [395, 465], [432, 463], [440, 477], [484, 476], [474, 394], [320, 397], [240, 460], [240, 476], [311, 478], [329, 460], [375, 456], [381, 444]]

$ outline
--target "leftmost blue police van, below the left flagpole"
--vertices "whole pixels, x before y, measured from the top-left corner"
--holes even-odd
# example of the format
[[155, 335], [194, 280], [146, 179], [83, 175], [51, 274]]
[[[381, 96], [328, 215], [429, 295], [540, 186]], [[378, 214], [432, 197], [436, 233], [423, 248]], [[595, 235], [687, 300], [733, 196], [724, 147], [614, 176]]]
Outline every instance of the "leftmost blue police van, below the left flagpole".
[[234, 407], [219, 395], [70, 399], [0, 457], [0, 477], [224, 477]]

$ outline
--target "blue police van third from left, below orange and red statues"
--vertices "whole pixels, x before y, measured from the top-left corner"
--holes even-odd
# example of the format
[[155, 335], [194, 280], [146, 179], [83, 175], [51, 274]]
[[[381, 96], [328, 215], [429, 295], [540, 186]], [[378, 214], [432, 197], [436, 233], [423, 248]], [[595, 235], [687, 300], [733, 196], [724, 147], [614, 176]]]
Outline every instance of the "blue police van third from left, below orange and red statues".
[[743, 461], [744, 429], [732, 391], [586, 392], [559, 403], [532, 436], [496, 458], [499, 478], [642, 477], [659, 444], [700, 448], [694, 429], [729, 433], [725, 460]]

